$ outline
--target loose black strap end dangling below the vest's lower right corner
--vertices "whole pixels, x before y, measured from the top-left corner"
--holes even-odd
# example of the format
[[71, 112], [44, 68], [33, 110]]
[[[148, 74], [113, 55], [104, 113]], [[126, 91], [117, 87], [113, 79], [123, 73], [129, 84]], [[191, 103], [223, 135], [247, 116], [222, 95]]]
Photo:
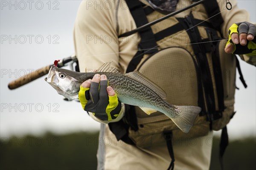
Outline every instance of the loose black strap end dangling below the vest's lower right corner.
[[221, 164], [221, 170], [224, 170], [223, 167], [223, 155], [228, 145], [228, 135], [227, 135], [227, 126], [225, 126], [221, 131], [221, 141], [220, 141], [220, 152], [219, 152], [219, 161]]

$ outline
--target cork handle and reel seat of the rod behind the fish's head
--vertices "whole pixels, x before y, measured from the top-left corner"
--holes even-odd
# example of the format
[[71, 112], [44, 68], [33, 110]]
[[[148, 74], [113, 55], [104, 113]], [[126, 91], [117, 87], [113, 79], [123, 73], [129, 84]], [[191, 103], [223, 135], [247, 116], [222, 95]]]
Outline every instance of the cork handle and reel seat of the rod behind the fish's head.
[[[76, 58], [76, 55], [71, 55], [68, 58], [64, 58], [64, 59], [60, 60], [58, 62], [58, 64], [57, 64], [57, 66], [58, 66], [58, 68], [61, 68], [63, 66], [67, 66], [70, 62], [75, 63], [77, 61], [78, 60]], [[44, 66], [41, 69], [37, 69], [37, 70], [35, 70], [33, 72], [30, 72], [29, 74], [26, 74], [25, 76], [23, 76], [21, 78], [16, 79], [15, 81], [10, 82], [8, 84], [8, 88], [11, 89], [11, 90], [12, 89], [16, 89], [16, 88], [18, 88], [20, 86], [28, 84], [31, 81], [34, 81], [34, 80], [36, 80], [38, 78], [41, 78], [44, 75], [47, 75], [49, 70], [50, 70], [50, 68], [51, 68], [51, 66], [53, 66], [53, 64]]]

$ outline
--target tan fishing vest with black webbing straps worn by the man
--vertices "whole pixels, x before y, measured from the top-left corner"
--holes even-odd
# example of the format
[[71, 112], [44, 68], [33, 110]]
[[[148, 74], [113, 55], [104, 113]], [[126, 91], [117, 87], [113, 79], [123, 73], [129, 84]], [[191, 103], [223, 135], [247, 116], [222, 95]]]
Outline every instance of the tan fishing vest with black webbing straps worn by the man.
[[[137, 28], [165, 15], [139, 0], [126, 3]], [[184, 18], [170, 17], [140, 31], [139, 50], [127, 68], [160, 86], [168, 103], [201, 107], [193, 127], [183, 133], [161, 112], [147, 115], [140, 104], [126, 105], [122, 121], [109, 124], [118, 140], [145, 148], [167, 140], [170, 147], [170, 138], [195, 138], [223, 129], [222, 145], [227, 145], [226, 124], [235, 114], [236, 66], [239, 74], [241, 70], [236, 56], [224, 52], [227, 41], [220, 33], [223, 19], [217, 1], [208, 0], [204, 9], [204, 18], [192, 11]]]

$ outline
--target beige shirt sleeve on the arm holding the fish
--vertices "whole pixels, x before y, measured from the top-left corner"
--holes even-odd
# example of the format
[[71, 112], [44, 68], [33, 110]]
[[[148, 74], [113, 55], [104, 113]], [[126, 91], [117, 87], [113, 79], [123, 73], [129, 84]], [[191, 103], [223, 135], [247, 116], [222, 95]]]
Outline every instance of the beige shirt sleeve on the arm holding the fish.
[[[79, 60], [80, 72], [94, 72], [102, 64], [112, 62], [119, 69], [119, 44], [117, 39], [116, 1], [83, 0], [79, 6], [75, 26], [74, 45]], [[93, 114], [96, 121], [110, 123], [119, 121], [125, 112], [124, 104], [119, 116], [112, 121], [102, 121]]]

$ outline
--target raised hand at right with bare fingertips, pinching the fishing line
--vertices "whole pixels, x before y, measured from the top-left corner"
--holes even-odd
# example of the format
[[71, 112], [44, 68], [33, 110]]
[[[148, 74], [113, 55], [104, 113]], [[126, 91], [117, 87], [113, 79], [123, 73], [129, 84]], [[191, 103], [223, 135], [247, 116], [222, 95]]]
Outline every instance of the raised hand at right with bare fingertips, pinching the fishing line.
[[256, 26], [248, 23], [234, 23], [229, 28], [229, 40], [225, 52], [256, 55]]

